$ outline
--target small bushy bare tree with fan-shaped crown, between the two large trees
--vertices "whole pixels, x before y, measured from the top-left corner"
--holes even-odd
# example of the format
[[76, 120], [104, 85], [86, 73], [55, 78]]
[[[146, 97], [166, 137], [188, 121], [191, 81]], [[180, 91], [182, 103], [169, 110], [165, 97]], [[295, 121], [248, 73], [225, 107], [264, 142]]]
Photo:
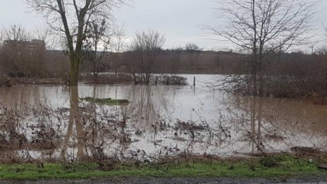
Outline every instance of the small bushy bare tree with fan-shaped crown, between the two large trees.
[[155, 64], [158, 61], [164, 42], [165, 38], [163, 35], [154, 30], [136, 33], [136, 37], [130, 46], [130, 49], [135, 54], [135, 63], [131, 64], [134, 69], [134, 75], [136, 71], [140, 76], [141, 82], [149, 84], [152, 75], [158, 69], [155, 68]]

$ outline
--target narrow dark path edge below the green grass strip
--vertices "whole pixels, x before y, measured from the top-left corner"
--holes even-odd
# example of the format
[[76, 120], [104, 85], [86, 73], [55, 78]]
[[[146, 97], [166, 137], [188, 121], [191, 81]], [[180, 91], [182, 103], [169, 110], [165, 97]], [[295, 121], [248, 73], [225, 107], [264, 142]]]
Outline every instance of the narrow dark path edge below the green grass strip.
[[100, 180], [0, 180], [0, 183], [11, 184], [61, 184], [61, 183], [167, 183], [167, 184], [181, 184], [181, 183], [327, 183], [327, 178], [297, 178], [297, 179], [229, 179], [229, 178], [105, 178]]

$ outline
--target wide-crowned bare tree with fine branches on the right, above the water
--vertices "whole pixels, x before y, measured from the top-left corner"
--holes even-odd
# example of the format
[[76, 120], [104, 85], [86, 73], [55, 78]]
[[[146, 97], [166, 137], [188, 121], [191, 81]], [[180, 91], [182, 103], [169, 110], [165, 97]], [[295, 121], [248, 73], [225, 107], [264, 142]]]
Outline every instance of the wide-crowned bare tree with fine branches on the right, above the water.
[[[226, 25], [204, 29], [239, 47], [247, 54], [251, 76], [230, 78], [237, 87], [249, 86], [251, 94], [263, 95], [263, 70], [272, 54], [280, 54], [305, 44], [311, 29], [316, 1], [307, 0], [228, 0], [221, 2]], [[258, 85], [259, 83], [259, 85]], [[226, 85], [226, 83], [224, 83]], [[235, 85], [233, 85], [235, 87]]]

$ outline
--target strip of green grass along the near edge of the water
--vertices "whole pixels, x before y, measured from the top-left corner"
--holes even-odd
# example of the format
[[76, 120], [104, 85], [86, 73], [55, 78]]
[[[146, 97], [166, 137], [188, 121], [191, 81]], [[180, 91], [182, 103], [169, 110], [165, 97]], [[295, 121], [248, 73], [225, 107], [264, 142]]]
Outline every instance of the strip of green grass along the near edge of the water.
[[[271, 163], [273, 162], [273, 163]], [[118, 164], [113, 171], [101, 171], [97, 164], [11, 164], [0, 165], [0, 179], [57, 179], [104, 177], [203, 177], [203, 178], [296, 178], [327, 176], [315, 163], [290, 156], [238, 161], [169, 161], [168, 164]]]

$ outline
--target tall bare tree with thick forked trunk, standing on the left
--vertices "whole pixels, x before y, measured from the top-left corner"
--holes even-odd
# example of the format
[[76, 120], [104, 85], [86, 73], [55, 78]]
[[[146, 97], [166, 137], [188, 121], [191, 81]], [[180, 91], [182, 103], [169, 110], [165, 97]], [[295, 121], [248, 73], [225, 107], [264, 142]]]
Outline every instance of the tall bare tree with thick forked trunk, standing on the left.
[[78, 85], [82, 45], [91, 23], [113, 20], [112, 10], [124, 0], [25, 0], [32, 11], [42, 13], [55, 32], [66, 37], [70, 57], [70, 86]]

